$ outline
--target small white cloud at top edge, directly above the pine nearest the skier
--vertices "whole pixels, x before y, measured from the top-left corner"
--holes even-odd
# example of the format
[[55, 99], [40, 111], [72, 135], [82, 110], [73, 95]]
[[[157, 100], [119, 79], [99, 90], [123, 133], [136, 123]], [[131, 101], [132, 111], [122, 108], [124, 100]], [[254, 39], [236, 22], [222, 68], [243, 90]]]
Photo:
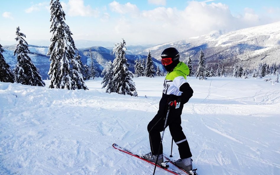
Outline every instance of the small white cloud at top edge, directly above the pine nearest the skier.
[[117, 1], [113, 1], [109, 4], [110, 9], [113, 12], [117, 12], [120, 14], [137, 14], [139, 13], [139, 9], [135, 4], [131, 4], [130, 2], [122, 5]]

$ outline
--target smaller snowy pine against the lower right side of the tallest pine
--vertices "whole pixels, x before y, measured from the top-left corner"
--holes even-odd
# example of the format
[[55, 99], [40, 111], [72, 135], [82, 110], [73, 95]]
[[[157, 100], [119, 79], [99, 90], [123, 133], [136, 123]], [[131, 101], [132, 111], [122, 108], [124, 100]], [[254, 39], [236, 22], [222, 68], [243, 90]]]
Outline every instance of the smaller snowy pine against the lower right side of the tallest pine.
[[71, 60], [71, 64], [72, 64], [72, 69], [71, 69], [71, 75], [72, 75], [72, 87], [74, 87], [74, 89], [84, 89], [84, 90], [88, 90], [87, 85], [84, 82], [84, 76], [82, 73], [82, 61], [81, 61], [81, 56], [79, 55], [79, 53], [77, 52], [77, 55], [75, 57], [75, 59]]

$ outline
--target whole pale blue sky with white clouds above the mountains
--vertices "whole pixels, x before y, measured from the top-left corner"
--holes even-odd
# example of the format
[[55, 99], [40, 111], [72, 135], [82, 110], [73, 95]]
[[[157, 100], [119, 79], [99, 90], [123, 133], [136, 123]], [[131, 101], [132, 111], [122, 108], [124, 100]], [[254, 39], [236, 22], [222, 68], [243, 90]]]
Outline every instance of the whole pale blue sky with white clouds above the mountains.
[[[160, 44], [280, 21], [277, 0], [60, 0], [74, 40]], [[16, 27], [29, 40], [49, 40], [50, 1], [1, 1], [0, 44]], [[32, 44], [28, 42], [28, 44]]]

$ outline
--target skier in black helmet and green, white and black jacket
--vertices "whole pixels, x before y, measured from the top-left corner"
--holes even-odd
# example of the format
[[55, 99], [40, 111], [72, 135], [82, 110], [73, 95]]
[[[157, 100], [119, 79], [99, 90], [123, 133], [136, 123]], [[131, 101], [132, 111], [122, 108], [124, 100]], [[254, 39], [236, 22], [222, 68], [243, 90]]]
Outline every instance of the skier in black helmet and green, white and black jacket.
[[[183, 104], [193, 96], [193, 89], [187, 83], [186, 76], [189, 74], [188, 66], [179, 61], [180, 55], [176, 48], [167, 48], [161, 54], [161, 62], [167, 71], [163, 84], [162, 98], [159, 102], [157, 115], [149, 122], [148, 132], [151, 152], [144, 155], [144, 158], [156, 162], [163, 162], [163, 149], [161, 144], [160, 132], [164, 130], [165, 117], [167, 115], [168, 105], [170, 105], [167, 125], [171, 136], [178, 145], [180, 159], [176, 165], [189, 172], [193, 169], [191, 150], [181, 127], [181, 114]], [[171, 103], [170, 103], [171, 102]]]

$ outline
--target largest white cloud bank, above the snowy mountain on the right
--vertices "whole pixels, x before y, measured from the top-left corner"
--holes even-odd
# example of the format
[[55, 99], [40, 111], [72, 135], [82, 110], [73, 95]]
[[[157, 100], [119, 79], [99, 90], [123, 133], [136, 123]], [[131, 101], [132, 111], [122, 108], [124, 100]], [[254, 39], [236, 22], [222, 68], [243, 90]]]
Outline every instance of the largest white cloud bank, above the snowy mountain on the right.
[[[226, 4], [209, 1], [188, 1], [183, 10], [157, 7], [140, 11], [134, 4], [120, 4], [117, 1], [111, 2], [107, 7], [108, 9], [101, 9], [99, 21], [95, 21], [99, 24], [89, 25], [93, 32], [84, 39], [115, 42], [124, 38], [128, 44], [163, 43], [204, 35], [213, 30], [230, 32], [268, 24], [276, 19], [256, 14], [252, 9], [244, 9], [239, 16], [233, 16]], [[279, 14], [277, 17], [279, 18]]]

